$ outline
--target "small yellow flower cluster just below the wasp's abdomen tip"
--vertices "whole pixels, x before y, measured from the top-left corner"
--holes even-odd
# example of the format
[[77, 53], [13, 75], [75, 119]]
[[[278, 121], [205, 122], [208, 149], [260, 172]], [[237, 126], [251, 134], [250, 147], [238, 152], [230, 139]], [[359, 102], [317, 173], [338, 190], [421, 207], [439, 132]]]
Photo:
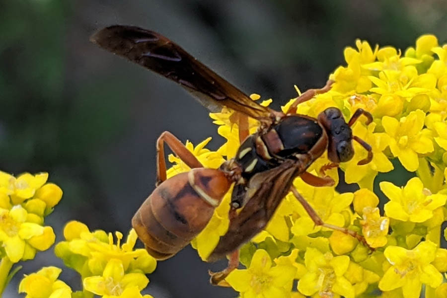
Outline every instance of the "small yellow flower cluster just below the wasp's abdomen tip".
[[105, 298], [149, 298], [141, 295], [152, 273], [156, 261], [141, 248], [135, 249], [137, 233], [131, 229], [125, 243], [123, 234], [103, 230], [91, 232], [85, 224], [72, 221], [64, 228], [66, 241], [59, 242], [55, 254], [67, 267], [77, 271], [82, 279], [83, 296], [95, 294]]

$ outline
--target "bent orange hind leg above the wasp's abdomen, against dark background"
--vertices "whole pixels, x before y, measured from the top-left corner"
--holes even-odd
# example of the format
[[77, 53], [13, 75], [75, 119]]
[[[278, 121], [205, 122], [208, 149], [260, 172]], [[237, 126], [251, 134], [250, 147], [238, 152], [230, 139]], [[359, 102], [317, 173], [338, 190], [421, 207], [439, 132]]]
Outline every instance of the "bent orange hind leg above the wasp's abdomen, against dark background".
[[166, 161], [164, 157], [164, 143], [190, 168], [203, 167], [202, 163], [194, 156], [173, 134], [163, 132], [157, 140], [157, 180], [155, 186], [166, 180]]

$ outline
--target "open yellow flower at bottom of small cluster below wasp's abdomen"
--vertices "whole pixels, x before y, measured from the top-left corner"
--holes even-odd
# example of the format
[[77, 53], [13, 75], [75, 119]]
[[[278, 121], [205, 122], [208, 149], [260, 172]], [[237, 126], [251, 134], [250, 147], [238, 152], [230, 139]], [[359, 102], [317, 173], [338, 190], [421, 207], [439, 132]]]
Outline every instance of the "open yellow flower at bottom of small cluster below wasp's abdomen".
[[142, 273], [124, 274], [121, 260], [110, 259], [102, 276], [84, 278], [84, 289], [103, 298], [135, 298], [148, 285], [148, 278]]

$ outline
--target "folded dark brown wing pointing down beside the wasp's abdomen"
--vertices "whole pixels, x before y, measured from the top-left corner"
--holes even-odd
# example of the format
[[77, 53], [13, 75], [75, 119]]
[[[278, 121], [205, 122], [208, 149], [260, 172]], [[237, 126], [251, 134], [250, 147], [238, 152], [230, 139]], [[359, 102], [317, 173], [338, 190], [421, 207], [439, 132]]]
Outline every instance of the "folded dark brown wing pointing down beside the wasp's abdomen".
[[276, 168], [254, 175], [248, 185], [248, 193], [253, 193], [251, 198], [230, 222], [207, 261], [224, 258], [259, 233], [289, 192], [295, 177], [303, 171], [301, 162], [286, 160]]

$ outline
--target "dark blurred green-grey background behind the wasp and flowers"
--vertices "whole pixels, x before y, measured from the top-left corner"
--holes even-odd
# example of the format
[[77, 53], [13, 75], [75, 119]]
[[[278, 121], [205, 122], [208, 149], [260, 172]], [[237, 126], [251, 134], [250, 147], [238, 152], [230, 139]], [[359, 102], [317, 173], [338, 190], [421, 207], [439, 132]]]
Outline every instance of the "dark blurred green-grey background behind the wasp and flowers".
[[[213, 136], [207, 111], [170, 81], [94, 45], [111, 24], [162, 33], [246, 93], [274, 107], [324, 84], [356, 38], [405, 49], [423, 33], [447, 40], [447, 4], [367, 0], [13, 0], [0, 1], [0, 169], [48, 171], [64, 190], [47, 218], [62, 239], [72, 219], [91, 229], [127, 231], [154, 187], [155, 140], [169, 130], [194, 143]], [[388, 176], [389, 177], [389, 176]], [[405, 176], [396, 184], [402, 184]], [[17, 297], [23, 273], [63, 266], [53, 250], [24, 263], [5, 297]], [[187, 248], [149, 276], [156, 298], [234, 297], [208, 284], [205, 264]], [[74, 289], [78, 276], [62, 274]]]

